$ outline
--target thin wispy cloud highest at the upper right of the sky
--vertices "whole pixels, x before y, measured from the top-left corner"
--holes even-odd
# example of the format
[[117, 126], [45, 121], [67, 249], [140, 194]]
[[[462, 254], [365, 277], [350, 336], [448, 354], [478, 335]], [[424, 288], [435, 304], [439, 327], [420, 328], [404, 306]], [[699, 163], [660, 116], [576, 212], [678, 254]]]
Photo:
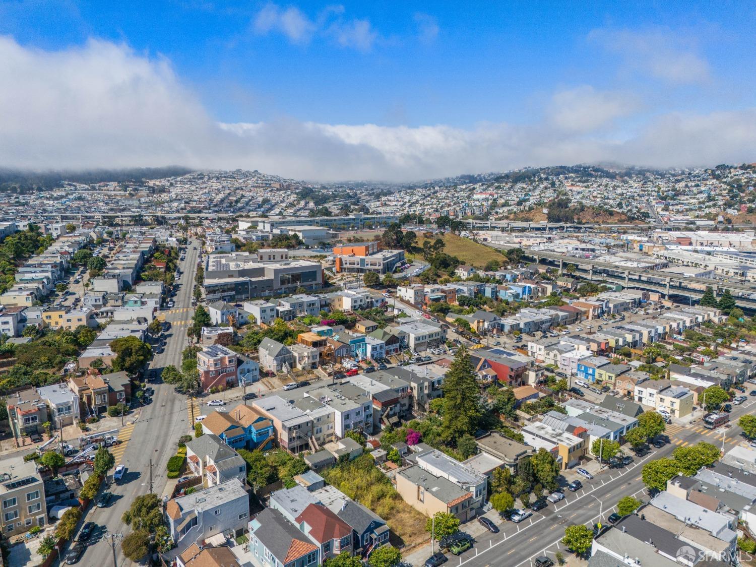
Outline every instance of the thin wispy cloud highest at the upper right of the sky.
[[665, 82], [692, 84], [711, 79], [711, 68], [698, 53], [696, 42], [671, 29], [594, 29], [588, 38], [619, 54], [627, 67]]

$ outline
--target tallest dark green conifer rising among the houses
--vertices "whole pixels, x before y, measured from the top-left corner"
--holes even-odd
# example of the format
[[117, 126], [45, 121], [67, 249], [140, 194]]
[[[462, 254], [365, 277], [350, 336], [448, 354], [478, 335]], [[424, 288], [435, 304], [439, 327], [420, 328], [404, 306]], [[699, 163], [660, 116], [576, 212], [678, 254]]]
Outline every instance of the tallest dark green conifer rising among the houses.
[[482, 410], [475, 371], [465, 347], [459, 349], [454, 355], [454, 361], [446, 373], [442, 390], [444, 392], [445, 438], [459, 439], [466, 433], [475, 432]]

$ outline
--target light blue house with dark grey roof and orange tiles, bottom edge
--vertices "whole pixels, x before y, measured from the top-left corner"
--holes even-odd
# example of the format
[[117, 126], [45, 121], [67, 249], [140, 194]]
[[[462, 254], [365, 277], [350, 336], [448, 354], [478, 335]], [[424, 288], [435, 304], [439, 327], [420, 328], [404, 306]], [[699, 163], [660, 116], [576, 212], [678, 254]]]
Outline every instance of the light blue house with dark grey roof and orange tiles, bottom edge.
[[322, 562], [319, 547], [273, 508], [249, 521], [248, 548], [258, 567], [314, 567]]

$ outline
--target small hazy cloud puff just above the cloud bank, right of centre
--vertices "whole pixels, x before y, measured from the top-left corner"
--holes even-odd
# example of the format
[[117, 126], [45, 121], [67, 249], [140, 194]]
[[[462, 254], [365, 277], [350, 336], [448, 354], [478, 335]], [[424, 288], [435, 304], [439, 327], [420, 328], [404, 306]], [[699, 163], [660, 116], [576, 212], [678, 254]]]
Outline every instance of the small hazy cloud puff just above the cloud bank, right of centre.
[[639, 107], [632, 95], [612, 91], [596, 91], [581, 85], [556, 92], [548, 116], [556, 127], [569, 132], [593, 132], [612, 125], [615, 119], [628, 116]]

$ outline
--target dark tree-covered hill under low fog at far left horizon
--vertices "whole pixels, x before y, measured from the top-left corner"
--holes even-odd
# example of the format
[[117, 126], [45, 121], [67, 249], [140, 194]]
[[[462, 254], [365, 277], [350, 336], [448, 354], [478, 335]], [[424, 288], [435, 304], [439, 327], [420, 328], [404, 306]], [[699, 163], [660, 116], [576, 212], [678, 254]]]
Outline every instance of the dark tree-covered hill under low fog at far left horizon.
[[161, 179], [186, 175], [193, 170], [182, 166], [141, 167], [131, 169], [88, 169], [83, 171], [30, 172], [0, 168], [0, 191], [29, 193], [63, 187], [64, 181], [95, 184], [103, 182], [139, 183], [147, 179]]

